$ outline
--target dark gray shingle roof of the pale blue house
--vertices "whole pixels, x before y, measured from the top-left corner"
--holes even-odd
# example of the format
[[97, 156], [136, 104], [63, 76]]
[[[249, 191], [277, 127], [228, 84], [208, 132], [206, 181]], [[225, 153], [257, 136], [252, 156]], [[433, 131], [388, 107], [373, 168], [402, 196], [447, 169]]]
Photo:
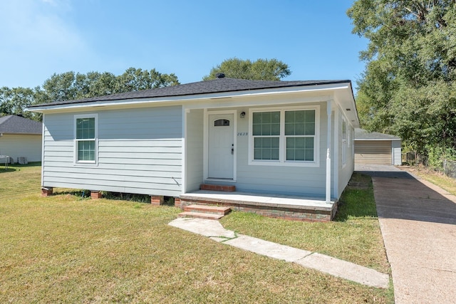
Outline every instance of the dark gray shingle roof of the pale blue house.
[[261, 90], [268, 88], [286, 88], [306, 85], [326, 85], [333, 83], [351, 83], [350, 80], [307, 80], [307, 81], [266, 81], [266, 80], [244, 80], [234, 78], [217, 78], [214, 80], [199, 81], [197, 83], [187, 83], [184, 85], [174, 85], [171, 87], [157, 88], [150, 90], [140, 90], [129, 93], [105, 95], [94, 98], [84, 98], [80, 100], [65, 100], [55, 103], [33, 105], [28, 108], [42, 108], [47, 105], [67, 105], [72, 103], [93, 103], [108, 100], [126, 100], [133, 98], [160, 98], [184, 95], [197, 95], [208, 93], [235, 92], [242, 90]]

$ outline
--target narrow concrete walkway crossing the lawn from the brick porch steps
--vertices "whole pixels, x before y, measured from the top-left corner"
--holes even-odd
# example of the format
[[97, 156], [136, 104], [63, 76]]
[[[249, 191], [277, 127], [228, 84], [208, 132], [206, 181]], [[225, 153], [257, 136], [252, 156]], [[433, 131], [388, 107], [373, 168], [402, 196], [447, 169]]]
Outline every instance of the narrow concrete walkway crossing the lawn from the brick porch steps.
[[179, 218], [170, 222], [170, 226], [207, 236], [229, 246], [252, 251], [263, 256], [297, 263], [306, 268], [331, 274], [350, 281], [376, 288], [388, 288], [389, 277], [371, 268], [342, 261], [320, 253], [312, 253], [290, 246], [272, 243], [252, 236], [236, 235], [234, 231], [224, 229], [219, 221], [210, 219]]

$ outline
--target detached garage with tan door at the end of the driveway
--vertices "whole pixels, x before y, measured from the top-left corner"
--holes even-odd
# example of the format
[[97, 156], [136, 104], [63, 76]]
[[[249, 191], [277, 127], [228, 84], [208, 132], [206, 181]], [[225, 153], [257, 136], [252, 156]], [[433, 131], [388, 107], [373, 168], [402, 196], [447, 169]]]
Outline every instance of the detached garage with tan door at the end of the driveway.
[[400, 137], [355, 130], [356, 164], [402, 164]]

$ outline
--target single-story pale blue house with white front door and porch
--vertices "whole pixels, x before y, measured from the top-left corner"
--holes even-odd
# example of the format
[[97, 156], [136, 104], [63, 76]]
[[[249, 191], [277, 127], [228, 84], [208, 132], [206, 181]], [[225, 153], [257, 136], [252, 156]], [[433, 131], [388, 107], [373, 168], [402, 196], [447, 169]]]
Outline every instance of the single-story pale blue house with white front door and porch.
[[[301, 199], [295, 206], [311, 205], [314, 219], [332, 219], [336, 212], [354, 169], [353, 132], [359, 127], [350, 80], [222, 74], [28, 110], [43, 113], [46, 189], [149, 194], [152, 201], [172, 196], [178, 206], [204, 202], [202, 190], [235, 190], [212, 202], [232, 198], [231, 205], [236, 201], [243, 210], [252, 197], [267, 194], [274, 203], [261, 204], [275, 211], [280, 199], [293, 196]], [[229, 196], [234, 194], [245, 196]]]

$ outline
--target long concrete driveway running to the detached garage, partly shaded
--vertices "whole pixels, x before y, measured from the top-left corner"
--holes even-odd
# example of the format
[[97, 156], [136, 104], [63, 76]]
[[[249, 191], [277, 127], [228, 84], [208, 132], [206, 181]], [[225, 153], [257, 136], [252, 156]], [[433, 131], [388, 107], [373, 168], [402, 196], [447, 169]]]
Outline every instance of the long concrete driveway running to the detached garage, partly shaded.
[[456, 303], [456, 196], [393, 166], [373, 179], [395, 303]]

